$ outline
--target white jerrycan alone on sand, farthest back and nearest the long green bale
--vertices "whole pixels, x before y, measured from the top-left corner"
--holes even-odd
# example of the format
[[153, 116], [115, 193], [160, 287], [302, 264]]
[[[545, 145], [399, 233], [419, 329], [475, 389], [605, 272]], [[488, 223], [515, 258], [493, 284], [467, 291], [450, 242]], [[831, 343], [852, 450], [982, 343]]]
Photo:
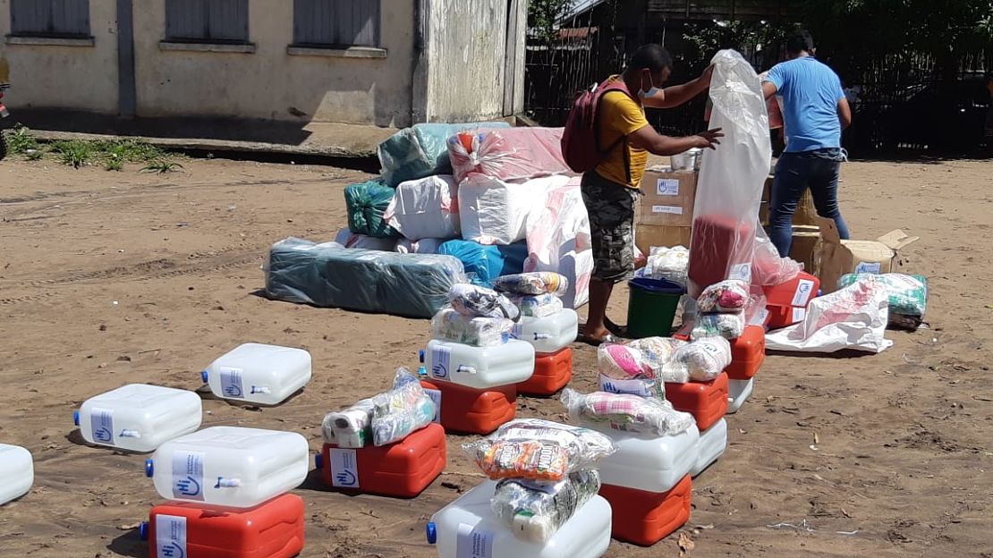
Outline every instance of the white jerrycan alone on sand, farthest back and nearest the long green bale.
[[202, 377], [221, 399], [278, 405], [310, 381], [311, 356], [304, 349], [246, 343], [214, 360]]

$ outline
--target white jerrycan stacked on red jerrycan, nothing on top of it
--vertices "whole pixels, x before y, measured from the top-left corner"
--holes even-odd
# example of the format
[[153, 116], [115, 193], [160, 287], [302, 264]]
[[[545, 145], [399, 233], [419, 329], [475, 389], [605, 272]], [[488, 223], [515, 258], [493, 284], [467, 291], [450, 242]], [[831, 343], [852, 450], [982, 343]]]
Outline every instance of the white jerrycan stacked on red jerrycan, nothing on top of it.
[[145, 474], [166, 499], [252, 507], [299, 487], [309, 462], [299, 434], [214, 426], [160, 446]]

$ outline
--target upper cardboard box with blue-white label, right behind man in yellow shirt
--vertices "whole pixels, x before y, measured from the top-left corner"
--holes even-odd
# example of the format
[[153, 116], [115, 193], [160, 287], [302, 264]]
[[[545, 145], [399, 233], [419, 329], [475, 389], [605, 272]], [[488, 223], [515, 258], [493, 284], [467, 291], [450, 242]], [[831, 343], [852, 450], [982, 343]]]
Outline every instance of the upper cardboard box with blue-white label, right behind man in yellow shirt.
[[697, 171], [648, 169], [641, 179], [637, 224], [691, 226]]

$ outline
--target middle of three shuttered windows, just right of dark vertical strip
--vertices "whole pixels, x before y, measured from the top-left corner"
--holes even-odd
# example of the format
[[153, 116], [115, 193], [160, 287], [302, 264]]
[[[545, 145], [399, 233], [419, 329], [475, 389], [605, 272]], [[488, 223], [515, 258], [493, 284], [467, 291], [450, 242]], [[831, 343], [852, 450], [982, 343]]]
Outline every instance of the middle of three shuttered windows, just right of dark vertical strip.
[[166, 41], [247, 43], [248, 0], [166, 0]]

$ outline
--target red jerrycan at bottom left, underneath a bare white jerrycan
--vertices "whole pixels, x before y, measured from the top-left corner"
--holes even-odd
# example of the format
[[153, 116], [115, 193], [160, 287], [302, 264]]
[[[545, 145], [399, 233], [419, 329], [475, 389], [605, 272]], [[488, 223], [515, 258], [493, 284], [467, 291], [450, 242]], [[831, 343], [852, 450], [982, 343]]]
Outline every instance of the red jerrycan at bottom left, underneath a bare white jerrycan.
[[248, 509], [163, 503], [140, 531], [152, 557], [291, 558], [304, 548], [304, 500], [283, 494]]

